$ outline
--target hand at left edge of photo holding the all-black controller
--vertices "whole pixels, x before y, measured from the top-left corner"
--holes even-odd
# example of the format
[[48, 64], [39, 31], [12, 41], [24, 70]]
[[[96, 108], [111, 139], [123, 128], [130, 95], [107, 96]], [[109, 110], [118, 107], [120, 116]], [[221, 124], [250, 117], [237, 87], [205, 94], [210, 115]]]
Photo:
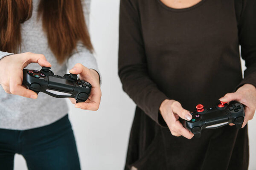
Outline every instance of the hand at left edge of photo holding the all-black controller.
[[15, 94], [36, 99], [37, 94], [22, 85], [23, 68], [35, 62], [42, 67], [51, 67], [51, 64], [42, 54], [22, 53], [6, 56], [0, 60], [0, 85], [8, 94]]

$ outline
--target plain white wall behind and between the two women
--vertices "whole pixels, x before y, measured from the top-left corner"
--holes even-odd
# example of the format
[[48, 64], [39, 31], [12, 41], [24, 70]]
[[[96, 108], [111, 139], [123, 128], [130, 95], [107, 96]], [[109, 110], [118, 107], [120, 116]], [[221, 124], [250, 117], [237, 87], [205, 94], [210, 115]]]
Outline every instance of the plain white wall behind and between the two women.
[[[135, 105], [122, 91], [117, 75], [119, 0], [92, 0], [90, 34], [103, 77], [98, 111], [83, 111], [70, 104], [82, 170], [122, 170]], [[243, 63], [244, 65], [244, 63]], [[256, 117], [249, 122], [250, 167], [256, 170]], [[15, 156], [15, 170], [27, 170]]]

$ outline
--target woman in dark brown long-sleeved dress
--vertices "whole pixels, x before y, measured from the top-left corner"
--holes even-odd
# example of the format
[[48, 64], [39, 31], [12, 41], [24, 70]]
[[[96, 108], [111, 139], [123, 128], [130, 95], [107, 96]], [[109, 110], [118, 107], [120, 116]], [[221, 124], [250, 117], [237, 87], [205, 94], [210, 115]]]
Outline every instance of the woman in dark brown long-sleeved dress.
[[[248, 168], [255, 9], [255, 0], [121, 0], [119, 76], [137, 104], [125, 170]], [[194, 138], [179, 118], [190, 120], [196, 105], [210, 108], [218, 99], [244, 104], [243, 128], [227, 125]]]

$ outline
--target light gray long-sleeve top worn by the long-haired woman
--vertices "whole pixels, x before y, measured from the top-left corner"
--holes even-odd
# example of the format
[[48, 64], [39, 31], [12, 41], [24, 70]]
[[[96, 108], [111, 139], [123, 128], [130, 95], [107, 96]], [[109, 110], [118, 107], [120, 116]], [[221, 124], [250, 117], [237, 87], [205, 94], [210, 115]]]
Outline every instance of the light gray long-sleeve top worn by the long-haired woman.
[[[47, 36], [43, 31], [41, 20], [37, 20], [37, 7], [39, 0], [33, 0], [32, 17], [21, 25], [22, 43], [19, 53], [32, 52], [44, 54], [52, 64], [55, 75], [63, 76], [67, 69], [71, 69], [76, 63], [81, 63], [87, 68], [98, 71], [96, 59], [86, 47], [77, 45], [77, 51], [59, 65], [57, 59], [50, 50]], [[87, 22], [89, 21], [90, 0], [84, 0], [83, 9]], [[0, 51], [0, 59], [10, 53]], [[26, 69], [40, 70], [37, 63], [29, 64]], [[99, 71], [98, 71], [99, 72]], [[35, 127], [49, 125], [65, 116], [68, 107], [65, 99], [54, 98], [44, 93], [39, 93], [37, 99], [29, 99], [22, 96], [7, 94], [0, 86], [0, 128], [12, 130], [26, 130]]]

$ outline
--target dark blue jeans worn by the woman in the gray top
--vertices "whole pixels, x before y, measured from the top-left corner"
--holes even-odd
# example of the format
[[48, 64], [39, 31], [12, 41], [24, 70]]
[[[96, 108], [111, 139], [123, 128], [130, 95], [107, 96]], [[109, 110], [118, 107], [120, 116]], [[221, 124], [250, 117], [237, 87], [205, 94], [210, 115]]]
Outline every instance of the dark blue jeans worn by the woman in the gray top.
[[13, 170], [15, 153], [29, 170], [80, 170], [76, 141], [68, 119], [30, 130], [0, 129], [0, 169]]

